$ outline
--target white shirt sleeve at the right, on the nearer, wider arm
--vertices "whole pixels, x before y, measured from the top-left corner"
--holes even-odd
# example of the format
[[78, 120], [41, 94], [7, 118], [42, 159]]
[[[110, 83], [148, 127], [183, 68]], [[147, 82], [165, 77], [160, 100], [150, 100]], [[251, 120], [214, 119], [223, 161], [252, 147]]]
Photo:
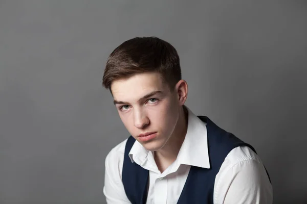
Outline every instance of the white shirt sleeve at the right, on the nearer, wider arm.
[[[251, 153], [251, 149], [248, 150]], [[242, 147], [239, 149], [242, 150]], [[237, 149], [237, 152], [238, 150]], [[253, 153], [251, 153], [253, 154]], [[235, 157], [234, 154], [230, 157]], [[215, 202], [224, 204], [272, 204], [273, 191], [266, 169], [254, 154], [233, 163], [226, 161], [223, 171], [218, 177]]]

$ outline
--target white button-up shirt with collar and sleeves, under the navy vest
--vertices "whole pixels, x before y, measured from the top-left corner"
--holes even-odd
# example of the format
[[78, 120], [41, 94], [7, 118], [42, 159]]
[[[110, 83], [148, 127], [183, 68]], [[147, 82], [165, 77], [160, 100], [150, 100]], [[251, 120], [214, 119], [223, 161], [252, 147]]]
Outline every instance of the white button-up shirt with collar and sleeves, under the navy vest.
[[[187, 108], [188, 109], [188, 108]], [[126, 140], [105, 159], [103, 193], [109, 204], [130, 203], [122, 183]], [[188, 129], [178, 157], [160, 172], [153, 152], [136, 141], [129, 152], [131, 162], [149, 170], [146, 203], [177, 203], [191, 166], [210, 168], [206, 124], [188, 109]], [[273, 203], [272, 185], [260, 158], [247, 146], [232, 149], [216, 174], [213, 202], [227, 204]]]

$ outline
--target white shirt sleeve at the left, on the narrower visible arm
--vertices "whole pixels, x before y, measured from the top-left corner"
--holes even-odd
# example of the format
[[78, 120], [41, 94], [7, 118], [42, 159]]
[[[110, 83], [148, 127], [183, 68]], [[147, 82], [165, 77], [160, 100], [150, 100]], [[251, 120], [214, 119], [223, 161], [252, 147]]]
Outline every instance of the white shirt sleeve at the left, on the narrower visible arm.
[[108, 204], [131, 203], [121, 181], [122, 166], [123, 152], [115, 147], [105, 158], [103, 193]]

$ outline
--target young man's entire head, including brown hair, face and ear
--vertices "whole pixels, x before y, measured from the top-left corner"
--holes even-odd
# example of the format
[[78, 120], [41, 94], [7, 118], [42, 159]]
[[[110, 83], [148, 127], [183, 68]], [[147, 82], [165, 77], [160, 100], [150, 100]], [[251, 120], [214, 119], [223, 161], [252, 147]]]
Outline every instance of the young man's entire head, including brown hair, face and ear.
[[[133, 38], [109, 56], [103, 86], [128, 132], [146, 149], [161, 149], [177, 128], [187, 97], [176, 49], [156, 37]], [[140, 134], [155, 133], [148, 137]], [[146, 141], [145, 141], [146, 140]]]

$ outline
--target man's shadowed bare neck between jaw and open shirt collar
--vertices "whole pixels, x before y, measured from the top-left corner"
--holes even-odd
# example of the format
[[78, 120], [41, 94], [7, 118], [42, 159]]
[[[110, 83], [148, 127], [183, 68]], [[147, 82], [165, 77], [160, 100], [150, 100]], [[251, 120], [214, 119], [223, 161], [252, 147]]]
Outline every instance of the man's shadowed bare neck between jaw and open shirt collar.
[[163, 148], [155, 151], [155, 161], [161, 172], [171, 165], [178, 156], [179, 150], [187, 133], [188, 111], [183, 106], [180, 109], [179, 119], [173, 134]]

